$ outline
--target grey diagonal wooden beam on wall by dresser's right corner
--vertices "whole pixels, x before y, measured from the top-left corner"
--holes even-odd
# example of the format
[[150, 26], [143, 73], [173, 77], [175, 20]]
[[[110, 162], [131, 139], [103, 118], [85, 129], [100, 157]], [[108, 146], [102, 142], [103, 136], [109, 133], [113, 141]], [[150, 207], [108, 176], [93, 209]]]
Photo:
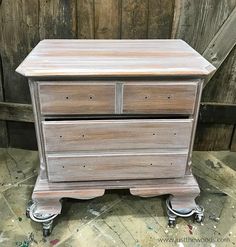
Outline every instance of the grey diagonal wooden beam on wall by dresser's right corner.
[[[210, 44], [203, 52], [205, 57], [210, 63], [212, 63], [216, 69], [224, 62], [228, 54], [234, 48], [236, 44], [236, 7], [224, 22], [222, 27], [216, 33]], [[215, 71], [216, 72], [216, 71]], [[211, 73], [204, 81], [203, 87], [209, 82], [214, 73]]]

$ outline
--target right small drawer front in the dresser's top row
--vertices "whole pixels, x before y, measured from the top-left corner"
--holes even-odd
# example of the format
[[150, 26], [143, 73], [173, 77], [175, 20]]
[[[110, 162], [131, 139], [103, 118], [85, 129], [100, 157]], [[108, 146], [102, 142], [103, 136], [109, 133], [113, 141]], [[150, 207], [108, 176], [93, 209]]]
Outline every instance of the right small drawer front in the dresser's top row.
[[124, 84], [123, 113], [192, 114], [196, 83]]

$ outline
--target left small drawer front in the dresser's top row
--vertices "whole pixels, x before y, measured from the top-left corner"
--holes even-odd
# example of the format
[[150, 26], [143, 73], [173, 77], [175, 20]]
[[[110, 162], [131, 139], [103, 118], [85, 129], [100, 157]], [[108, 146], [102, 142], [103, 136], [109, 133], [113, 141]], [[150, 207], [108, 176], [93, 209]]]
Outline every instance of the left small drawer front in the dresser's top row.
[[41, 83], [42, 114], [113, 114], [115, 84]]

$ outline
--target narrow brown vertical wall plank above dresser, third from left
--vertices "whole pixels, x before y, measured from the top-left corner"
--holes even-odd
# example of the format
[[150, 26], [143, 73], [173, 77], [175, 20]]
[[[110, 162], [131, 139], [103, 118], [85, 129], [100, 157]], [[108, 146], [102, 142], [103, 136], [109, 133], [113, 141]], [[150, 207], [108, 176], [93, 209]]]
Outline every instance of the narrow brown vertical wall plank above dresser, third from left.
[[77, 27], [79, 39], [94, 39], [94, 1], [77, 0]]

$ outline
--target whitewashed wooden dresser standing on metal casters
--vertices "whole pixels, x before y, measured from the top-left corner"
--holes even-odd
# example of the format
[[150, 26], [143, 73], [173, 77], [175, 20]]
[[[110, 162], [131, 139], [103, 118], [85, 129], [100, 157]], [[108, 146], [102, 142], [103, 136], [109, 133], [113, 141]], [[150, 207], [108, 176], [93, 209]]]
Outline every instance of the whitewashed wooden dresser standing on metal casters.
[[51, 232], [65, 197], [106, 189], [170, 195], [169, 224], [196, 214], [191, 154], [204, 78], [215, 68], [182, 40], [43, 40], [29, 78], [40, 173], [27, 214]]

